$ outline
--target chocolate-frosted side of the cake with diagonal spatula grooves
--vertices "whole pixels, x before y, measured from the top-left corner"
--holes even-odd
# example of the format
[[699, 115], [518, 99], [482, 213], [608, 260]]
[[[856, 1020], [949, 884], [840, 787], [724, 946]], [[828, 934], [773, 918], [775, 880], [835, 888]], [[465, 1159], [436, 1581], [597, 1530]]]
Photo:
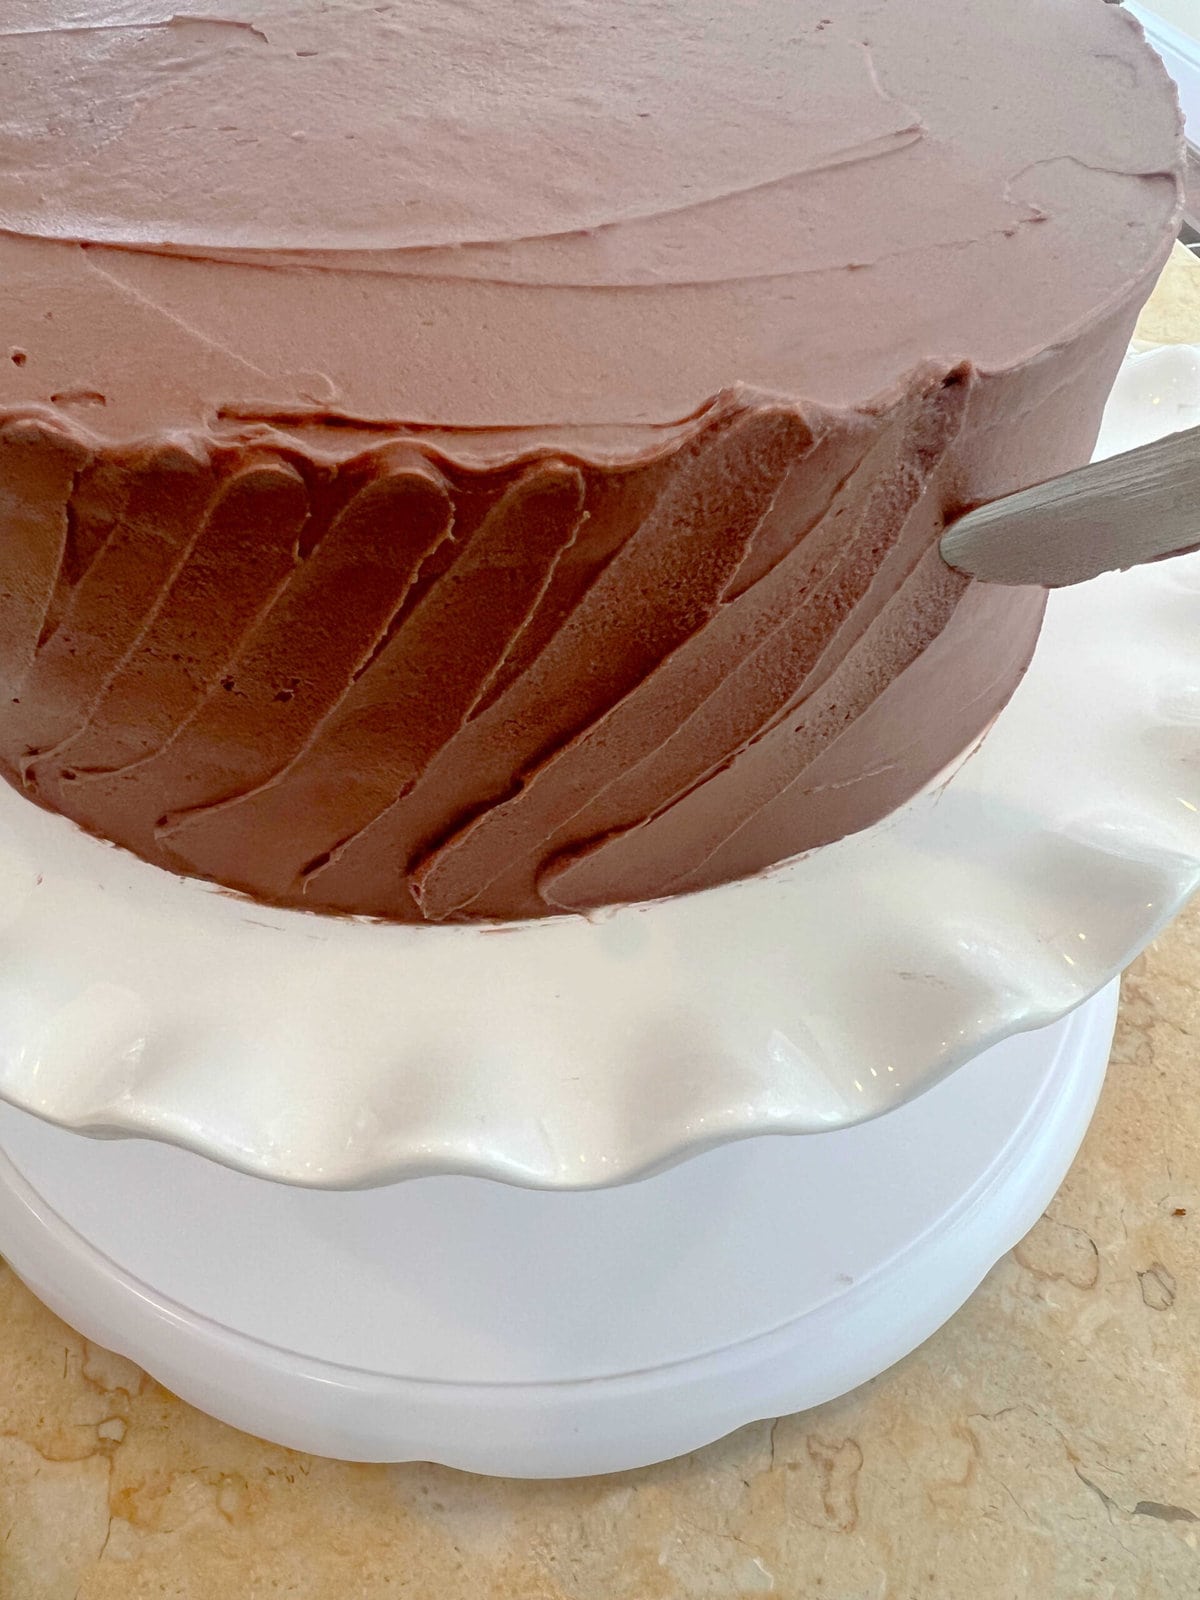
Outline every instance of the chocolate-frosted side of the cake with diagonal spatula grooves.
[[998, 475], [1088, 453], [1131, 315], [869, 411], [733, 390], [629, 467], [10, 421], [42, 554], [6, 546], [5, 766], [163, 867], [318, 910], [530, 917], [758, 870], [1003, 706], [1042, 592], [970, 586], [936, 541]]

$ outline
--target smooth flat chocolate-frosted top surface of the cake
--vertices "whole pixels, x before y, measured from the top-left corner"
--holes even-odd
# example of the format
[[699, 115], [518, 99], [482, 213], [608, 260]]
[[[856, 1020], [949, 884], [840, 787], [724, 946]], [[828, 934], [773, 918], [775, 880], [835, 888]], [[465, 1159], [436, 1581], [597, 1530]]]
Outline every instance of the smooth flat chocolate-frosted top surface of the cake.
[[0, 406], [630, 448], [1130, 298], [1179, 114], [1101, 0], [8, 0]]

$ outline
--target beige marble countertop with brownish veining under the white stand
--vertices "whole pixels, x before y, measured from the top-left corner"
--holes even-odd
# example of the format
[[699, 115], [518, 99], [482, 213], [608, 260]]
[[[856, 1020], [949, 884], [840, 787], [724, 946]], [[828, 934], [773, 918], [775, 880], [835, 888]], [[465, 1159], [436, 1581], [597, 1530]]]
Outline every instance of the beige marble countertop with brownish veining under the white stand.
[[[1142, 322], [1200, 341], [1181, 251]], [[0, 1600], [1197, 1600], [1200, 902], [1126, 974], [1070, 1176], [926, 1346], [573, 1483], [264, 1445], [0, 1264]]]

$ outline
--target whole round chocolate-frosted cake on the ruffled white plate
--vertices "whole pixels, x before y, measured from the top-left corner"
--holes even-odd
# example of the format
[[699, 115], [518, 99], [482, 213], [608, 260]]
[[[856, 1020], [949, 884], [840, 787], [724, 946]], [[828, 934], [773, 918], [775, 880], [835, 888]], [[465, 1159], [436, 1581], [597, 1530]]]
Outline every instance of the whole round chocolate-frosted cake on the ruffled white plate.
[[1102, 0], [8, 0], [0, 766], [402, 922], [886, 816], [1043, 594], [1178, 224]]

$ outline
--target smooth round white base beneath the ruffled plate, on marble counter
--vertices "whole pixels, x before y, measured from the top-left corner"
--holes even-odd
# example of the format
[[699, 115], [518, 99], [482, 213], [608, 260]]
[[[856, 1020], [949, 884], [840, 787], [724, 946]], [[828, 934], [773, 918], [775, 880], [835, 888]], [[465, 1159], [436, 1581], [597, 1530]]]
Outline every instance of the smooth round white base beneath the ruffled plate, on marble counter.
[[298, 1450], [614, 1472], [853, 1389], [1032, 1227], [1117, 986], [877, 1122], [616, 1189], [288, 1189], [0, 1106], [0, 1253], [90, 1339]]

